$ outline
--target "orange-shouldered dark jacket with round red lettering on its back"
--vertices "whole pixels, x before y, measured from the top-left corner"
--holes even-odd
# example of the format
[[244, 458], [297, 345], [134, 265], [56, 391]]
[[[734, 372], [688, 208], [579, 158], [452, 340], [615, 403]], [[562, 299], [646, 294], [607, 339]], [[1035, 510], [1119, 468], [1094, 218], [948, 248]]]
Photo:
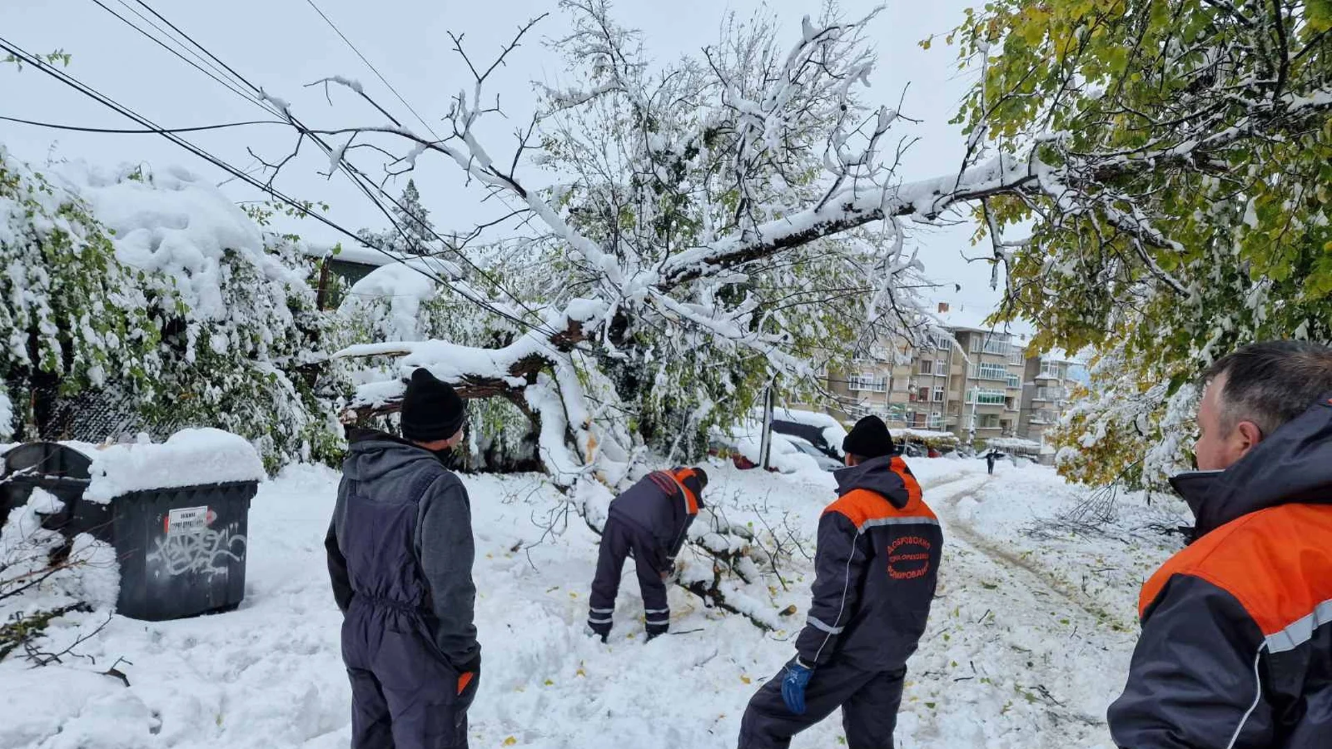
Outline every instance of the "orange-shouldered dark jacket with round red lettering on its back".
[[838, 500], [819, 518], [814, 601], [795, 641], [799, 660], [895, 670], [930, 616], [943, 533], [900, 457], [836, 472]]

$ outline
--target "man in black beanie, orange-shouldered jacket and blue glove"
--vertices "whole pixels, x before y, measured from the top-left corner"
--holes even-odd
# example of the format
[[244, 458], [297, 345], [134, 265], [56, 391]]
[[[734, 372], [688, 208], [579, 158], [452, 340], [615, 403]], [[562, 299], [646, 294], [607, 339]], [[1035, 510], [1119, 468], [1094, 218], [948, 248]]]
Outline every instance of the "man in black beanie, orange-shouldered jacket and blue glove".
[[741, 749], [786, 749], [842, 708], [850, 749], [891, 749], [906, 662], [939, 574], [943, 534], [892, 437], [866, 416], [842, 442], [838, 500], [819, 518], [813, 597], [795, 658], [741, 721]]

